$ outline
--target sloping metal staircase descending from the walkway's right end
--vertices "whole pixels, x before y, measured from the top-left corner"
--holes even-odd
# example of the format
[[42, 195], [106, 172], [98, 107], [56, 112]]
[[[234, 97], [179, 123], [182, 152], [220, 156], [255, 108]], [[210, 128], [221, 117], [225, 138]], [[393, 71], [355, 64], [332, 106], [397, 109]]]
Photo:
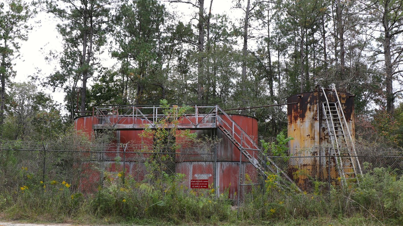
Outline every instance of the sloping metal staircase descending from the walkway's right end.
[[[264, 162], [262, 158], [259, 155], [255, 155], [254, 151], [261, 151], [259, 146], [250, 138], [250, 136], [243, 131], [243, 129], [229, 116], [225, 113], [224, 110], [222, 110], [220, 107], [217, 107], [217, 128], [220, 129], [225, 136], [227, 136], [231, 142], [239, 149], [241, 154], [246, 156], [246, 158], [255, 166], [259, 173], [264, 176], [264, 171], [265, 168], [261, 164], [261, 162]], [[267, 168], [272, 172], [272, 173], [281, 173], [281, 175], [291, 183], [294, 183], [294, 181], [280, 168], [278, 167], [274, 161], [267, 157], [266, 160], [270, 162], [270, 164], [267, 165]], [[274, 167], [272, 167], [274, 166]], [[280, 176], [281, 176], [280, 175]], [[301, 189], [296, 186], [299, 191]]]

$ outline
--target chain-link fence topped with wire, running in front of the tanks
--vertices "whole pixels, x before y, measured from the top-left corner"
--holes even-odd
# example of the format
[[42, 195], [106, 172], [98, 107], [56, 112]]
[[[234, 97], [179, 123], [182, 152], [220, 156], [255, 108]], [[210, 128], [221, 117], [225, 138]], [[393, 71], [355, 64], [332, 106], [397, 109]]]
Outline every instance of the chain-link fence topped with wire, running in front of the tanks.
[[[231, 186], [230, 198], [237, 205], [250, 198], [247, 194], [253, 189], [264, 192], [268, 181], [280, 183], [284, 180], [281, 171], [303, 191], [309, 192], [317, 181], [327, 183], [328, 187], [340, 186], [337, 155], [331, 150], [329, 152], [328, 147], [301, 150], [296, 152], [299, 155], [293, 156], [269, 154], [267, 157], [278, 168], [270, 162], [262, 162], [263, 166], [271, 166], [277, 171], [273, 173], [266, 167], [268, 173], [264, 177], [244, 155], [240, 161], [221, 161], [220, 158], [217, 160], [215, 150], [214, 145], [204, 144], [172, 153], [152, 150], [144, 144], [94, 143], [78, 139], [44, 143], [3, 142], [0, 189], [18, 189], [22, 186], [21, 177], [24, 177], [37, 181], [68, 181], [72, 189], [91, 193], [103, 186], [107, 177], [142, 181], [150, 172], [150, 160], [157, 160], [168, 173], [176, 171], [187, 175], [183, 185], [189, 188], [192, 179], [208, 180], [208, 188], [214, 188], [216, 195], [228, 188], [225, 186]], [[380, 167], [389, 168], [397, 175], [403, 174], [403, 151], [400, 149], [359, 146], [357, 155], [349, 157], [357, 157], [364, 174]]]

